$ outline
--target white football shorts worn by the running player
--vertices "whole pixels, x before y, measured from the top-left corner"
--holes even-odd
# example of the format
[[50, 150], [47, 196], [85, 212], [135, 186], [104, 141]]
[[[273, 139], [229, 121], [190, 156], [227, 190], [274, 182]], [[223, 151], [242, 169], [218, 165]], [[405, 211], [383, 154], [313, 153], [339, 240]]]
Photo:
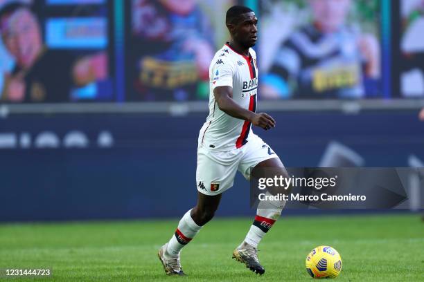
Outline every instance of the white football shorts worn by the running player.
[[253, 133], [241, 148], [231, 151], [213, 151], [197, 148], [196, 185], [205, 195], [218, 195], [233, 187], [236, 172], [240, 171], [250, 180], [250, 171], [256, 164], [271, 158], [276, 153], [263, 140]]

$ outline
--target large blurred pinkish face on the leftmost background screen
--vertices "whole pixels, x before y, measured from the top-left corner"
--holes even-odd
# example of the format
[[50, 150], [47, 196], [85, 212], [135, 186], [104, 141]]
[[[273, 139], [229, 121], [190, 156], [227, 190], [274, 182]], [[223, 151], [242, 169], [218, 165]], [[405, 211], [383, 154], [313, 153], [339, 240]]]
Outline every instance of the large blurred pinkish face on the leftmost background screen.
[[21, 9], [2, 21], [1, 26], [4, 44], [17, 64], [32, 65], [42, 46], [37, 19], [28, 10]]

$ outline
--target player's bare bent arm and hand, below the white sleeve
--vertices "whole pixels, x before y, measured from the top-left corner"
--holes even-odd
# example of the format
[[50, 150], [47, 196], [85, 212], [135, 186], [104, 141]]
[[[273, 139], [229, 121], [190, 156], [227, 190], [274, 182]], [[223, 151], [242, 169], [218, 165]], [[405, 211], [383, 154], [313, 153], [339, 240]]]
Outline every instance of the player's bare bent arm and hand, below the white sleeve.
[[227, 115], [240, 120], [248, 120], [254, 126], [263, 129], [271, 129], [275, 127], [275, 120], [267, 113], [254, 113], [242, 108], [233, 100], [233, 88], [231, 86], [218, 86], [213, 89], [213, 95], [218, 107]]

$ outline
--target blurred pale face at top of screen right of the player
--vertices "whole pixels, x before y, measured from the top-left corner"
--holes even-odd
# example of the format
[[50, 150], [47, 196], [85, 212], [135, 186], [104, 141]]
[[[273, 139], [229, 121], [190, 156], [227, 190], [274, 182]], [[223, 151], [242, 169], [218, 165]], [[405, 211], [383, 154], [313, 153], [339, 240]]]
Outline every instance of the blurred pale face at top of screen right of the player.
[[337, 30], [344, 24], [351, 0], [310, 0], [312, 14], [326, 32]]

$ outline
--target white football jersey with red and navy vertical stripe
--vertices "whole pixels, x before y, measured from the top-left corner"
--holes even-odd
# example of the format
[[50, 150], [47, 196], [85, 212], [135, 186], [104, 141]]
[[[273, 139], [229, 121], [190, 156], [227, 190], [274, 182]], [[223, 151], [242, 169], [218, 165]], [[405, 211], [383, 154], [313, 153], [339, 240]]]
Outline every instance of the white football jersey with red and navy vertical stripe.
[[215, 151], [240, 148], [249, 141], [251, 122], [233, 118], [224, 113], [215, 102], [213, 89], [231, 86], [233, 100], [242, 108], [256, 111], [258, 66], [256, 53], [249, 48], [249, 57], [225, 44], [213, 57], [209, 66], [209, 115], [200, 129], [199, 147]]

